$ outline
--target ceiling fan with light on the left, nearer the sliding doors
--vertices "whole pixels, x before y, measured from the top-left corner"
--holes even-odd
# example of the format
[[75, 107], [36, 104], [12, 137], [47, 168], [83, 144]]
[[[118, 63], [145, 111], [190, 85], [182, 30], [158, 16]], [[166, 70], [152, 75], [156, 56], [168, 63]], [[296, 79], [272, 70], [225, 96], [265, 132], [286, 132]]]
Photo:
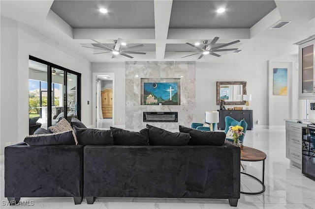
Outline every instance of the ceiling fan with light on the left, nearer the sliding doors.
[[104, 50], [106, 52], [98, 52], [98, 53], [93, 53], [93, 54], [100, 54], [100, 53], [109, 53], [112, 52], [112, 58], [115, 58], [116, 55], [121, 54], [123, 56], [133, 58], [133, 56], [128, 55], [127, 53], [134, 53], [134, 54], [146, 54], [146, 52], [132, 52], [132, 51], [127, 51], [130, 49], [136, 49], [140, 47], [144, 47], [143, 44], [132, 46], [132, 47], [127, 47], [127, 48], [121, 48], [121, 45], [123, 45], [123, 39], [118, 38], [117, 40], [114, 40], [115, 46], [113, 48], [106, 46], [105, 44], [102, 44], [94, 39], [91, 39], [92, 41], [96, 42], [98, 45], [94, 47], [86, 47], [82, 46], [85, 48], [92, 48], [92, 49], [98, 49], [98, 50]]

